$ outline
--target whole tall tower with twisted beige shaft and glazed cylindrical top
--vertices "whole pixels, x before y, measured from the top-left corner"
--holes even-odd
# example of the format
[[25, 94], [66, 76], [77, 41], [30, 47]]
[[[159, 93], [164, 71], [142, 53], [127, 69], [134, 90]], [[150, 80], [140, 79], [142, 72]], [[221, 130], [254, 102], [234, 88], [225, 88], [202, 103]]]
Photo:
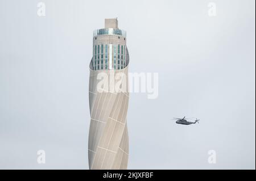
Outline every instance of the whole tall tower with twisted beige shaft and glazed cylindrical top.
[[[105, 19], [105, 28], [94, 31], [93, 36], [89, 79], [89, 169], [127, 169], [129, 53], [126, 33], [118, 29], [117, 23], [117, 19]], [[108, 82], [103, 87], [99, 86], [100, 75], [106, 75], [105, 82]], [[120, 82], [122, 91], [116, 91], [115, 85]]]

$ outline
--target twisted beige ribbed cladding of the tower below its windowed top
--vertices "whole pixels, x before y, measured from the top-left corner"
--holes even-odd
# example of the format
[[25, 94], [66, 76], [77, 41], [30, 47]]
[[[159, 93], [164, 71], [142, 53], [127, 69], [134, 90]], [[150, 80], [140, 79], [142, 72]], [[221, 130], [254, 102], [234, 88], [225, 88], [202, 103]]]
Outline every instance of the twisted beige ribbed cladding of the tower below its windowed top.
[[[127, 53], [129, 58], [129, 54]], [[128, 59], [129, 61], [129, 59]], [[129, 140], [127, 109], [129, 102], [128, 66], [120, 70], [92, 70], [90, 64], [89, 107], [90, 130], [88, 143], [89, 169], [127, 169]], [[126, 76], [125, 92], [98, 92], [99, 73]], [[115, 83], [119, 80], [115, 80]], [[110, 85], [109, 85], [110, 86]], [[110, 89], [109, 89], [110, 90]]]

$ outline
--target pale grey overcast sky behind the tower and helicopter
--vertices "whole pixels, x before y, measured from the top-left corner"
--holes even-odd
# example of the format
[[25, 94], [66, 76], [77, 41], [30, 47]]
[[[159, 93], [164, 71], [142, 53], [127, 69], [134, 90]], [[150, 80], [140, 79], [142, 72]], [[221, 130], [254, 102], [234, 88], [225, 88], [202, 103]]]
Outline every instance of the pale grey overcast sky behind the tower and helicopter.
[[38, 2], [0, 0], [0, 169], [88, 169], [92, 33], [115, 17], [129, 71], [159, 73], [158, 99], [130, 95], [128, 168], [255, 169], [255, 1]]

